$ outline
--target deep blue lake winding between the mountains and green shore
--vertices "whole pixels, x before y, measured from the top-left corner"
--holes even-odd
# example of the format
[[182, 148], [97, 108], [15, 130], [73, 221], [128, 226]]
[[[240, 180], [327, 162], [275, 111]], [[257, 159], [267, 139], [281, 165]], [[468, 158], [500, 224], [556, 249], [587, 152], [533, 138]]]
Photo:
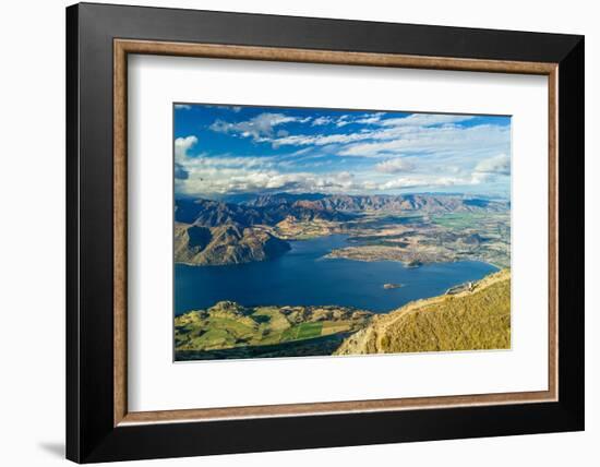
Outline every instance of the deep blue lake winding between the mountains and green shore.
[[[292, 241], [290, 251], [272, 261], [228, 266], [176, 264], [175, 312], [232, 300], [247, 307], [338, 304], [383, 313], [497, 271], [478, 261], [405, 267], [393, 261], [323, 259], [333, 249], [348, 246], [346, 238], [333, 235]], [[384, 289], [386, 283], [403, 287]]]

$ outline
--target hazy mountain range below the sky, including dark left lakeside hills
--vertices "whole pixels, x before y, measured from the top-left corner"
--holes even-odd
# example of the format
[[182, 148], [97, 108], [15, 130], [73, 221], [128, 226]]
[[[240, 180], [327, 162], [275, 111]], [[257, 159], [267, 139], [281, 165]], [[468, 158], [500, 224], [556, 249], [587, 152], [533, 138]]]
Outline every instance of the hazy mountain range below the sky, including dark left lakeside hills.
[[339, 195], [275, 193], [238, 203], [178, 199], [175, 259], [192, 265], [264, 261], [290, 249], [269, 231], [281, 221], [345, 223], [363, 214], [501, 212], [509, 203], [461, 194]]

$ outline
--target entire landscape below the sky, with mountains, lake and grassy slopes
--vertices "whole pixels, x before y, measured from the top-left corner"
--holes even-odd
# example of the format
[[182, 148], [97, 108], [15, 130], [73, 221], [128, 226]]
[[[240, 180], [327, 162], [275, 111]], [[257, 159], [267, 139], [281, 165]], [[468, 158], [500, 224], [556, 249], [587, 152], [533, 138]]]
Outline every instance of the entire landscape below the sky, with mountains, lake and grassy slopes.
[[175, 219], [178, 361], [509, 347], [507, 202], [278, 193]]

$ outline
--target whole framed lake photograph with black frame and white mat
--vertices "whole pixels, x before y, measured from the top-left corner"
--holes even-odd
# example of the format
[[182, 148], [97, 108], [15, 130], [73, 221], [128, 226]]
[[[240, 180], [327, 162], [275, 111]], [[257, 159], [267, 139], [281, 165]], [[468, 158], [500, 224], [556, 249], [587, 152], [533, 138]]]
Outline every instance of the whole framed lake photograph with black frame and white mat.
[[584, 429], [584, 38], [67, 9], [67, 456]]

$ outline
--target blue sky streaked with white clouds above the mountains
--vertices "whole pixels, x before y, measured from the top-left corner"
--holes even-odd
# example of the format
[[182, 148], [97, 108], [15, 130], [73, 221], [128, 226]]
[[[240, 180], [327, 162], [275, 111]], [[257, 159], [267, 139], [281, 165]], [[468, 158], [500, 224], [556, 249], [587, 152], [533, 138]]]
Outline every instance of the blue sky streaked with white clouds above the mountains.
[[201, 104], [173, 112], [177, 195], [511, 191], [509, 117]]

